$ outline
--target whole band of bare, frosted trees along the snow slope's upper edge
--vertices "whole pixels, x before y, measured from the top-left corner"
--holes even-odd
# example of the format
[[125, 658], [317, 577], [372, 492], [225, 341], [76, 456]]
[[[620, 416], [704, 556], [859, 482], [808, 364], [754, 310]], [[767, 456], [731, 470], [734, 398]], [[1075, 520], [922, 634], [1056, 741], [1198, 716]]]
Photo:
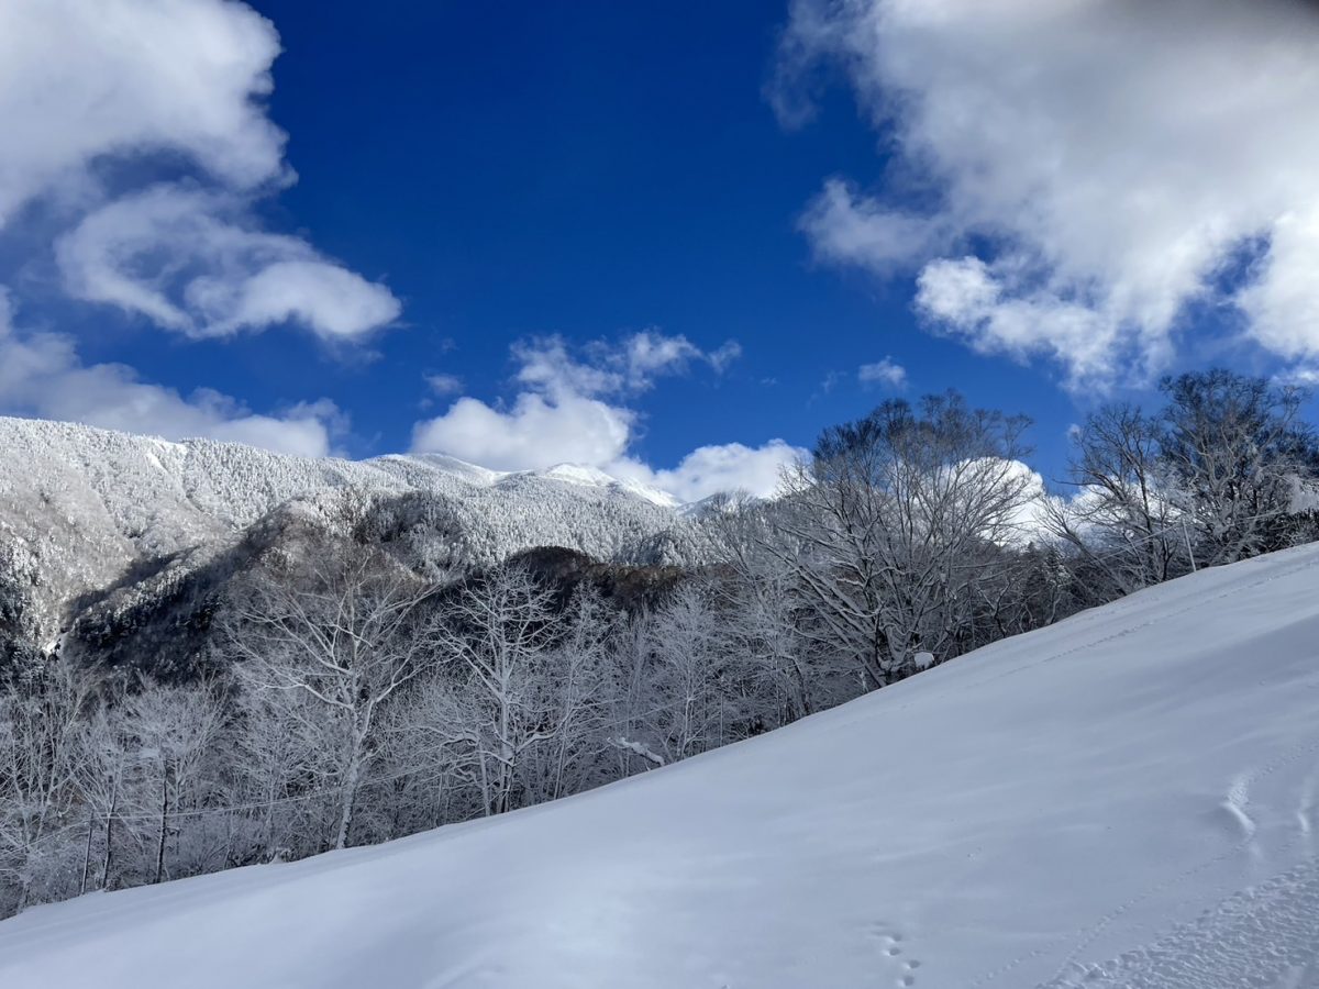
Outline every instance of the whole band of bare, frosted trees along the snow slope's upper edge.
[[227, 585], [190, 676], [12, 662], [0, 913], [579, 793], [1316, 538], [1301, 392], [1211, 372], [1163, 393], [1089, 417], [1070, 497], [1022, 465], [1025, 419], [893, 401], [827, 430], [781, 497], [710, 505], [702, 570], [437, 572], [322, 533]]

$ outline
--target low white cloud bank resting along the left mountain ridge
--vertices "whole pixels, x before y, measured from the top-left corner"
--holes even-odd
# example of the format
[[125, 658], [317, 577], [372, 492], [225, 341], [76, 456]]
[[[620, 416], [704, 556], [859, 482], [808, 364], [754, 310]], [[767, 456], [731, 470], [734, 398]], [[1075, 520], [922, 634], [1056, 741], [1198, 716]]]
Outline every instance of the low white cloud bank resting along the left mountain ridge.
[[103, 429], [183, 439], [208, 436], [301, 456], [324, 456], [343, 429], [332, 402], [262, 415], [211, 389], [189, 397], [138, 381], [123, 364], [83, 364], [62, 334], [13, 327], [0, 290], [0, 414], [84, 422]]

